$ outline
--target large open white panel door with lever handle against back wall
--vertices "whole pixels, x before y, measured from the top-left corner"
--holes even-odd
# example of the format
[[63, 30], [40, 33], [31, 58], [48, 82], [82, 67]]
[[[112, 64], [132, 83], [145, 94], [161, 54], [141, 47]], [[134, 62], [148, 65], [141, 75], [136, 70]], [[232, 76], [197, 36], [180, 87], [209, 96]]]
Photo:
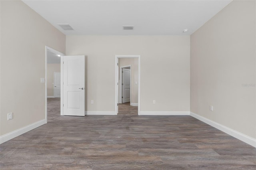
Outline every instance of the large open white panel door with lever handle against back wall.
[[63, 115], [84, 116], [85, 56], [63, 56]]

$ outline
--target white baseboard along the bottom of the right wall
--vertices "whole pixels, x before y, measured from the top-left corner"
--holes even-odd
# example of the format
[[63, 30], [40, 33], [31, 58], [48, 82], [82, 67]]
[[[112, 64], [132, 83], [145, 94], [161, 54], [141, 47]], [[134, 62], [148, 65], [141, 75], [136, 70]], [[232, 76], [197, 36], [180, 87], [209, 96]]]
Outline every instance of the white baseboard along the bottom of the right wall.
[[240, 133], [236, 130], [228, 128], [228, 127], [226, 127], [224, 125], [221, 125], [217, 122], [211, 121], [210, 119], [207, 119], [205, 117], [197, 115], [196, 113], [190, 112], [190, 116], [192, 116], [192, 117], [194, 117], [194, 118], [196, 118], [196, 119], [198, 119], [198, 120], [200, 120], [200, 121], [202, 121], [202, 122], [204, 122], [204, 123], [206, 123], [206, 124], [208, 124], [212, 127], [215, 127], [217, 129], [221, 130], [222, 132], [225, 132], [225, 133], [227, 133], [227, 134], [229, 134], [229, 135], [231, 135], [231, 136], [233, 136], [233, 137], [235, 137], [239, 140], [242, 140], [243, 142], [246, 142], [247, 144], [250, 144], [251, 146], [256, 147], [256, 139], [251, 138], [250, 136], [242, 134], [242, 133]]

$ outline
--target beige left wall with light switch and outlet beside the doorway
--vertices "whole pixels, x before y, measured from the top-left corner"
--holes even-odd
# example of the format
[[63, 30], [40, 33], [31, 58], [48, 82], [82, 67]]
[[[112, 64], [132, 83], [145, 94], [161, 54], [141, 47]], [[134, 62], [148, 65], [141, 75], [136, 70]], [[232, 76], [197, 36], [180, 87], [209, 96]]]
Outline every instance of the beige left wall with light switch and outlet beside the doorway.
[[45, 45], [64, 53], [65, 35], [20, 0], [0, 4], [3, 135], [45, 119]]

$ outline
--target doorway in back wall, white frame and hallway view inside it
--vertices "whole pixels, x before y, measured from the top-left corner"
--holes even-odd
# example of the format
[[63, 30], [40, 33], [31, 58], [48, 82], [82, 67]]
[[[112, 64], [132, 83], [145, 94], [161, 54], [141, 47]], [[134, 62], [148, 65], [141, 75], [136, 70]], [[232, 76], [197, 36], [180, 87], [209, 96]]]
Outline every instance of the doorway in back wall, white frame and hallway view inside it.
[[116, 55], [115, 114], [118, 105], [138, 106], [140, 115], [140, 55]]

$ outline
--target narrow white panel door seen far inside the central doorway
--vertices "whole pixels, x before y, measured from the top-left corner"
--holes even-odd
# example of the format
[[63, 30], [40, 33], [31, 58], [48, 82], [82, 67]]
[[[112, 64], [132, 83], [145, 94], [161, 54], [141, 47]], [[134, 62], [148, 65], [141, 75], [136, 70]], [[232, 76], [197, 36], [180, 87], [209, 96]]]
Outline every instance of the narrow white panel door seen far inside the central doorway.
[[131, 70], [123, 68], [122, 103], [130, 102]]

